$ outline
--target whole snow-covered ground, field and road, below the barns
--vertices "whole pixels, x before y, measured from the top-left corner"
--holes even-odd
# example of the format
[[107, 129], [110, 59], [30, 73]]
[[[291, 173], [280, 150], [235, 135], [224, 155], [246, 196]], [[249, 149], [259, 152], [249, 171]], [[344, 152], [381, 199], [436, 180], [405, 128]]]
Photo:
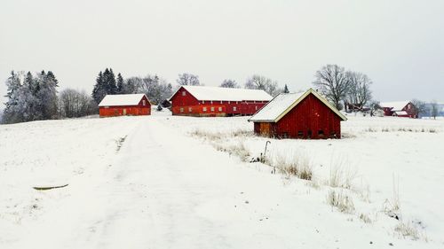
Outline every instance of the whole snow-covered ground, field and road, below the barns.
[[[444, 247], [444, 120], [352, 116], [302, 141], [153, 113], [0, 126], [0, 248]], [[250, 163], [267, 140], [272, 167]], [[292, 160], [313, 179], [271, 174]]]

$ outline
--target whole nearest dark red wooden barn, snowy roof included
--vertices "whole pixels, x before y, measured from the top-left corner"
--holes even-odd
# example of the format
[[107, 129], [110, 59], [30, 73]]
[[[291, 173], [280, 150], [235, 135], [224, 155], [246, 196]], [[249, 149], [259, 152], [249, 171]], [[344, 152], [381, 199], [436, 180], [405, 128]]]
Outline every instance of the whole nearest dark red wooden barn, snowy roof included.
[[340, 138], [345, 116], [313, 89], [281, 93], [249, 121], [254, 132], [278, 138]]

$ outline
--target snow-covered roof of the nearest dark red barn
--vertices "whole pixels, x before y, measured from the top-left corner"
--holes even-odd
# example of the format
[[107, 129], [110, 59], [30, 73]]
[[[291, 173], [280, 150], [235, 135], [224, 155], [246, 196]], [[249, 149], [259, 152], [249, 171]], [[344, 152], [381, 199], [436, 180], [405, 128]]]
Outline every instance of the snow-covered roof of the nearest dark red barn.
[[311, 93], [313, 93], [315, 97], [318, 97], [322, 101], [322, 103], [327, 105], [334, 113], [337, 113], [337, 115], [343, 121], [347, 120], [347, 118], [345, 118], [342, 113], [337, 111], [337, 108], [331, 105], [327, 99], [321, 97], [321, 95], [315, 90], [309, 89], [305, 92], [281, 93], [280, 95], [274, 97], [274, 99], [268, 102], [268, 104], [266, 104], [264, 107], [262, 107], [262, 109], [260, 109], [258, 113], [255, 113], [249, 121], [277, 122]]

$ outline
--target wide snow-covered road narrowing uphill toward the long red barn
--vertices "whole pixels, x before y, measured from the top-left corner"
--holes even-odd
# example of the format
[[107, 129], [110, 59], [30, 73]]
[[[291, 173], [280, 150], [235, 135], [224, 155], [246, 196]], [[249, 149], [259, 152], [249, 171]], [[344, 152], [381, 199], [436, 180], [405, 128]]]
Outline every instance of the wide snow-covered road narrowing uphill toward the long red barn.
[[345, 222], [323, 193], [286, 187], [168, 122], [140, 117], [112, 163], [57, 190], [70, 194], [1, 247], [392, 248], [385, 230]]

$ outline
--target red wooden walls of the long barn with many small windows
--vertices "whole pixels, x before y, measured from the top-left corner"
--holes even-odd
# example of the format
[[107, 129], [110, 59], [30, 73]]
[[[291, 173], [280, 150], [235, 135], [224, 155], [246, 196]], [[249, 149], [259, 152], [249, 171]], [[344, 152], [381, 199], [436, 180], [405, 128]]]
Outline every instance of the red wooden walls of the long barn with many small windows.
[[[185, 92], [185, 95], [183, 95]], [[233, 116], [252, 115], [268, 101], [199, 101], [186, 89], [178, 89], [171, 97], [173, 115]]]

